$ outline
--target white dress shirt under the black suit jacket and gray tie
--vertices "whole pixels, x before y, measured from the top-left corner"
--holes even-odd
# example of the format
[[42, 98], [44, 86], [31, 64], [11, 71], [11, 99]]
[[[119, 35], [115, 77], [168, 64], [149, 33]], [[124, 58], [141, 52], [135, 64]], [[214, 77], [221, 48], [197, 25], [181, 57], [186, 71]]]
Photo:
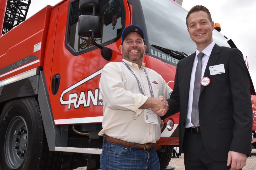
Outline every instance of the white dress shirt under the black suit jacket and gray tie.
[[[205, 69], [206, 69], [206, 65], [208, 63], [210, 54], [212, 52], [212, 48], [214, 46], [214, 42], [210, 43], [202, 52], [205, 54], [205, 56], [202, 58], [202, 74], [201, 74], [201, 78], [203, 78], [204, 74], [205, 74]], [[193, 63], [193, 67], [192, 67], [192, 72], [191, 72], [191, 78], [190, 78], [190, 86], [189, 86], [189, 101], [188, 101], [188, 109], [187, 109], [187, 120], [186, 120], [186, 128], [190, 128], [192, 126], [194, 126], [191, 123], [191, 112], [192, 112], [192, 103], [193, 103], [193, 91], [194, 91], [194, 83], [195, 83], [195, 71], [197, 68], [197, 62], [198, 62], [198, 58], [197, 55], [199, 54], [200, 51], [198, 51], [196, 49], [196, 55], [195, 55], [195, 59], [194, 59], [194, 63]], [[200, 124], [200, 122], [199, 122]]]

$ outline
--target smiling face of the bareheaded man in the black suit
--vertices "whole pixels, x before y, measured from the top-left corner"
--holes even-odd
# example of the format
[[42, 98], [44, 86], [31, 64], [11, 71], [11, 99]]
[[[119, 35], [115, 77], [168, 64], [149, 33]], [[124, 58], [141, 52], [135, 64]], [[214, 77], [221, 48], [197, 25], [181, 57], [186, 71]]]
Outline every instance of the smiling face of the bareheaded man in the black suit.
[[197, 44], [197, 48], [200, 47], [203, 50], [213, 41], [213, 22], [210, 22], [208, 14], [204, 11], [197, 11], [191, 13], [187, 18], [187, 22], [187, 30], [191, 39]]

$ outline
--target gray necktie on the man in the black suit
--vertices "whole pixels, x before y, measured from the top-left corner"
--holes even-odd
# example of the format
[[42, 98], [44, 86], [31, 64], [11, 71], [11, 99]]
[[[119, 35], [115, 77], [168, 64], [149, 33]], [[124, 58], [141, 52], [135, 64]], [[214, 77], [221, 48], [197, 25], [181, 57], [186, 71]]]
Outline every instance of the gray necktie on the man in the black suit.
[[199, 126], [199, 111], [198, 111], [198, 101], [201, 90], [201, 73], [202, 73], [202, 58], [205, 54], [200, 52], [198, 57], [197, 68], [195, 72], [195, 82], [194, 82], [194, 91], [193, 91], [193, 103], [192, 103], [192, 112], [191, 112], [191, 123], [197, 127]]

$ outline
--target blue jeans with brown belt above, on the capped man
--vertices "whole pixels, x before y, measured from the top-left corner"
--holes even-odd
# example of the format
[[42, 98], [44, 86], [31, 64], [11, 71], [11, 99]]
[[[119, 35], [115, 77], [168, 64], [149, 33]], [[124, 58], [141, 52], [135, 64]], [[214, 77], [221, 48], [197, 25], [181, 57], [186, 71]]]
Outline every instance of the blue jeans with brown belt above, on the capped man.
[[[136, 145], [136, 144], [135, 144]], [[100, 168], [102, 170], [160, 170], [156, 149], [140, 149], [103, 139]]]

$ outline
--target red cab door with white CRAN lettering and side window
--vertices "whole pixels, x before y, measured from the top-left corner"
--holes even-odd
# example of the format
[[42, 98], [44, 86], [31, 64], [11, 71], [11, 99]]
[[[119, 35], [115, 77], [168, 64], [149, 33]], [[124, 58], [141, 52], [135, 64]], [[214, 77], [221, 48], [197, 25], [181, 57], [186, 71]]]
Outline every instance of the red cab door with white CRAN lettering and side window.
[[[86, 14], [91, 12], [88, 9]], [[95, 40], [113, 50], [112, 61], [121, 61], [118, 52], [124, 13], [124, 3], [119, 0], [102, 1], [101, 11], [96, 13], [102, 18], [103, 27], [102, 37]], [[59, 4], [49, 86], [55, 124], [95, 123], [103, 118], [99, 80], [109, 61], [102, 58], [90, 38], [77, 35], [81, 14], [79, 0]]]

